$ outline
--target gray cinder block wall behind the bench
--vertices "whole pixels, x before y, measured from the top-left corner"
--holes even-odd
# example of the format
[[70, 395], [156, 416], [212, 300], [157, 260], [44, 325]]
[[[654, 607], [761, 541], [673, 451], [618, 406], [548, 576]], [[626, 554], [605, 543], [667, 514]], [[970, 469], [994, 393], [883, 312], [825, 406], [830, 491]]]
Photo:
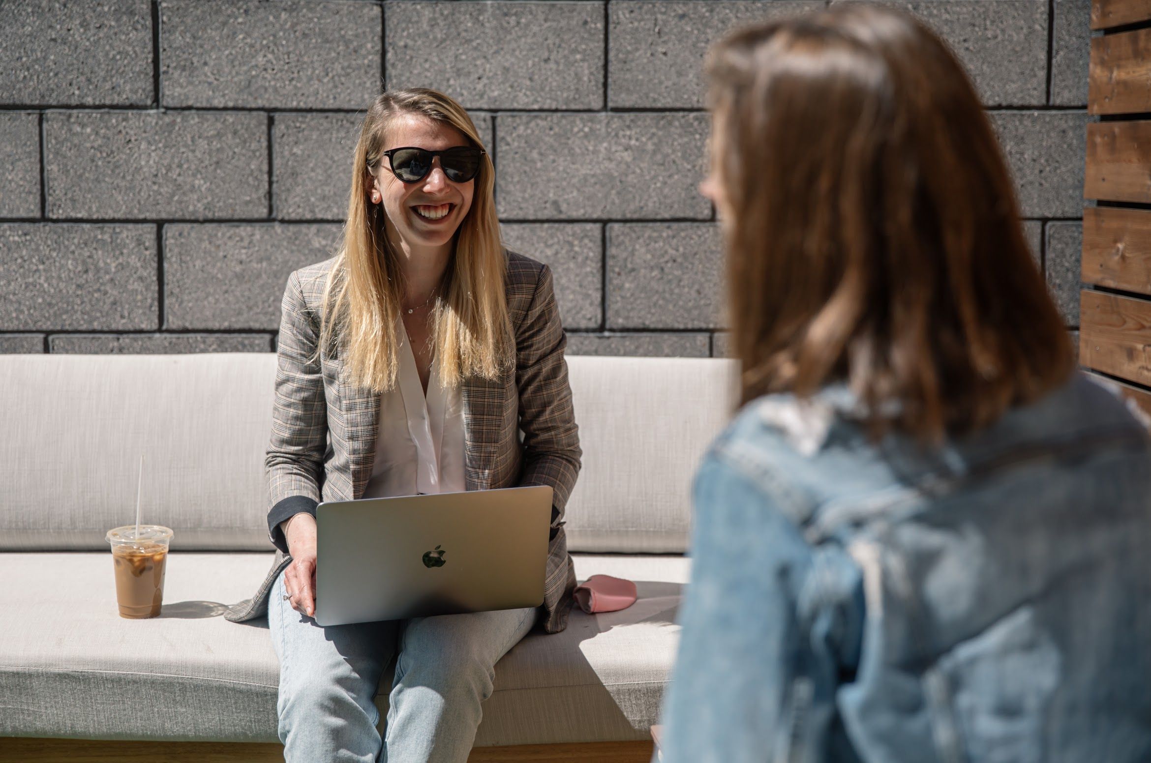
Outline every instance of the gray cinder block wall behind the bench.
[[[472, 110], [570, 352], [722, 356], [703, 51], [825, 5], [0, 3], [0, 352], [274, 351], [288, 274], [338, 244], [383, 84]], [[969, 68], [1074, 330], [1090, 1], [901, 5]]]

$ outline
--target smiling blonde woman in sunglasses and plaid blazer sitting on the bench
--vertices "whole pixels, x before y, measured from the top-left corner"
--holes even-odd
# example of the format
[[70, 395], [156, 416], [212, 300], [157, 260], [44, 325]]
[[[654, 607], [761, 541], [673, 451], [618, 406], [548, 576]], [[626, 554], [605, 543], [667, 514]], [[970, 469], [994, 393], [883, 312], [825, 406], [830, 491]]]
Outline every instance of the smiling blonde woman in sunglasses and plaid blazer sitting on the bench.
[[[581, 451], [565, 338], [551, 272], [501, 245], [493, 181], [456, 101], [384, 92], [343, 246], [288, 279], [266, 460], [276, 560], [228, 616], [267, 610], [287, 761], [465, 761], [496, 662], [533, 626], [566, 625]], [[318, 502], [518, 484], [555, 491], [542, 606], [317, 625]], [[373, 695], [394, 656], [381, 739]]]

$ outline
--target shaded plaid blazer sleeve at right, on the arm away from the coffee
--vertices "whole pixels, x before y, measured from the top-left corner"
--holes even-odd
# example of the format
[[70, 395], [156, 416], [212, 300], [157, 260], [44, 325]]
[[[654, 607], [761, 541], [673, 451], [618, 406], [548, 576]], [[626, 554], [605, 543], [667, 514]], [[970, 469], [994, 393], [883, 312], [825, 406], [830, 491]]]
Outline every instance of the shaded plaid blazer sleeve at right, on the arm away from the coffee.
[[544, 265], [517, 330], [516, 383], [519, 428], [524, 432], [524, 471], [519, 483], [551, 486], [551, 539], [564, 524], [564, 508], [576, 487], [582, 456], [564, 360], [566, 345], [551, 269]]

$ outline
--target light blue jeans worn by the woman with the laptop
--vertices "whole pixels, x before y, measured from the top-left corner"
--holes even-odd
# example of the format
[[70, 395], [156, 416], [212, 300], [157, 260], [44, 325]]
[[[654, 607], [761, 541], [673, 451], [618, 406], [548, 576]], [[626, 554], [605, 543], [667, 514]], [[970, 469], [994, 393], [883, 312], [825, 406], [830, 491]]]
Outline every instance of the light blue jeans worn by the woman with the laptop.
[[[528, 606], [325, 627], [284, 601], [283, 580], [281, 572], [268, 627], [280, 659], [276, 714], [288, 763], [464, 763], [494, 666], [539, 612]], [[397, 649], [381, 739], [373, 697]]]

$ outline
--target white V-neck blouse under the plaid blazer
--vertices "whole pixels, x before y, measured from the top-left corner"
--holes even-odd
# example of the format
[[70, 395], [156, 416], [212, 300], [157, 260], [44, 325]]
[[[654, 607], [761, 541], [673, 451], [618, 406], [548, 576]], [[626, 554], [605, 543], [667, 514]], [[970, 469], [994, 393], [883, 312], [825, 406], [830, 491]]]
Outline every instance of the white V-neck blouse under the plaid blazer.
[[432, 359], [425, 397], [407, 329], [399, 316], [398, 383], [380, 395], [375, 461], [364, 498], [466, 490], [464, 404], [459, 386], [443, 389]]

